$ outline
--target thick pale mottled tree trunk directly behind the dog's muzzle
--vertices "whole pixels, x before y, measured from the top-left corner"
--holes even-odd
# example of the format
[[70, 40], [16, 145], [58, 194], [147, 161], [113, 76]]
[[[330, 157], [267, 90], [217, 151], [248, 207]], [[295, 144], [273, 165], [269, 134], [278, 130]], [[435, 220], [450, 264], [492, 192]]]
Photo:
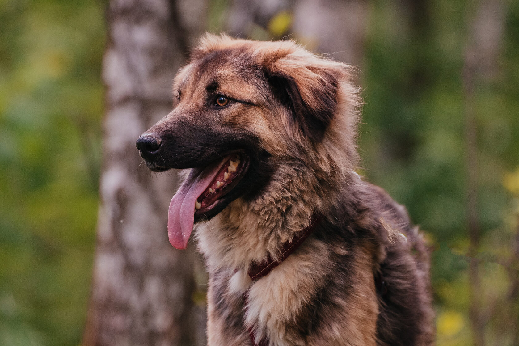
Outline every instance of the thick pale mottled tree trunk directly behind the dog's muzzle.
[[192, 299], [193, 246], [176, 251], [167, 237], [176, 175], [149, 172], [135, 148], [171, 110], [172, 78], [201, 31], [203, 9], [193, 1], [108, 2], [101, 206], [85, 345], [205, 343], [196, 321], [205, 313]]

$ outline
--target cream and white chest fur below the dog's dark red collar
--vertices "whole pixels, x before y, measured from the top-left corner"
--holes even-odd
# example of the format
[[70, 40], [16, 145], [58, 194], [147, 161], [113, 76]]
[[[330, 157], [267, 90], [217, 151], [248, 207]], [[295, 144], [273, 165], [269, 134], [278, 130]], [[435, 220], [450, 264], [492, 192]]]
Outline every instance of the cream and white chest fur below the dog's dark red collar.
[[[244, 333], [253, 329], [258, 340], [267, 338], [280, 346], [294, 344], [301, 330], [297, 323], [305, 320], [300, 317], [315, 298], [322, 281], [323, 271], [317, 268], [318, 262], [308, 251], [311, 245], [316, 246], [316, 241], [309, 243], [257, 281], [253, 282], [244, 270], [229, 269], [227, 275], [218, 275], [221, 282], [215, 284], [221, 289], [215, 293], [220, 296], [213, 301], [241, 310]], [[237, 301], [241, 301], [239, 307]], [[232, 324], [228, 323], [226, 328]]]

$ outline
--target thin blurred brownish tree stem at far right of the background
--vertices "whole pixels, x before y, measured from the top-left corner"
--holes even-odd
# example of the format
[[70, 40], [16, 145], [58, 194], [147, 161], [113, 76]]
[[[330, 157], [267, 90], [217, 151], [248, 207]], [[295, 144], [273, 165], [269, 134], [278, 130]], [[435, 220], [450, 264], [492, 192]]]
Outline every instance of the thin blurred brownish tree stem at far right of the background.
[[[465, 96], [466, 213], [469, 233], [470, 321], [474, 346], [486, 344], [485, 327], [497, 311], [497, 302], [483, 306], [484, 292], [480, 282], [480, 262], [476, 258], [481, 243], [481, 225], [477, 210], [477, 114], [476, 91], [497, 74], [504, 32], [505, 3], [502, 0], [480, 0], [469, 12], [467, 47], [463, 57], [463, 94]], [[513, 282], [512, 282], [513, 284]]]

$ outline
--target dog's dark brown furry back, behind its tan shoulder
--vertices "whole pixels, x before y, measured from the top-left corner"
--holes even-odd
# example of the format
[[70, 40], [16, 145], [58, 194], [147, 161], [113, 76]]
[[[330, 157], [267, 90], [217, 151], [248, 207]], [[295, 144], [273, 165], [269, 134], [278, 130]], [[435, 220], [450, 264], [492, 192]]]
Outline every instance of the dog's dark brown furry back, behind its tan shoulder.
[[343, 211], [353, 211], [351, 223], [377, 247], [375, 284], [379, 300], [384, 301], [377, 320], [380, 340], [395, 345], [432, 344], [429, 250], [418, 227], [383, 188], [362, 182], [350, 190]]

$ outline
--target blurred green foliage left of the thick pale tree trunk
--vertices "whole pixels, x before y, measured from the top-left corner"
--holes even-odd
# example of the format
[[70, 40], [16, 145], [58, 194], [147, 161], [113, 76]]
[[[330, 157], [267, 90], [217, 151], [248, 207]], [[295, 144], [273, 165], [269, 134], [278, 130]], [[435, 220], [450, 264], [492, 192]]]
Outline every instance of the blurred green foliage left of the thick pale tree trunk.
[[0, 345], [80, 342], [98, 207], [103, 6], [0, 1]]

